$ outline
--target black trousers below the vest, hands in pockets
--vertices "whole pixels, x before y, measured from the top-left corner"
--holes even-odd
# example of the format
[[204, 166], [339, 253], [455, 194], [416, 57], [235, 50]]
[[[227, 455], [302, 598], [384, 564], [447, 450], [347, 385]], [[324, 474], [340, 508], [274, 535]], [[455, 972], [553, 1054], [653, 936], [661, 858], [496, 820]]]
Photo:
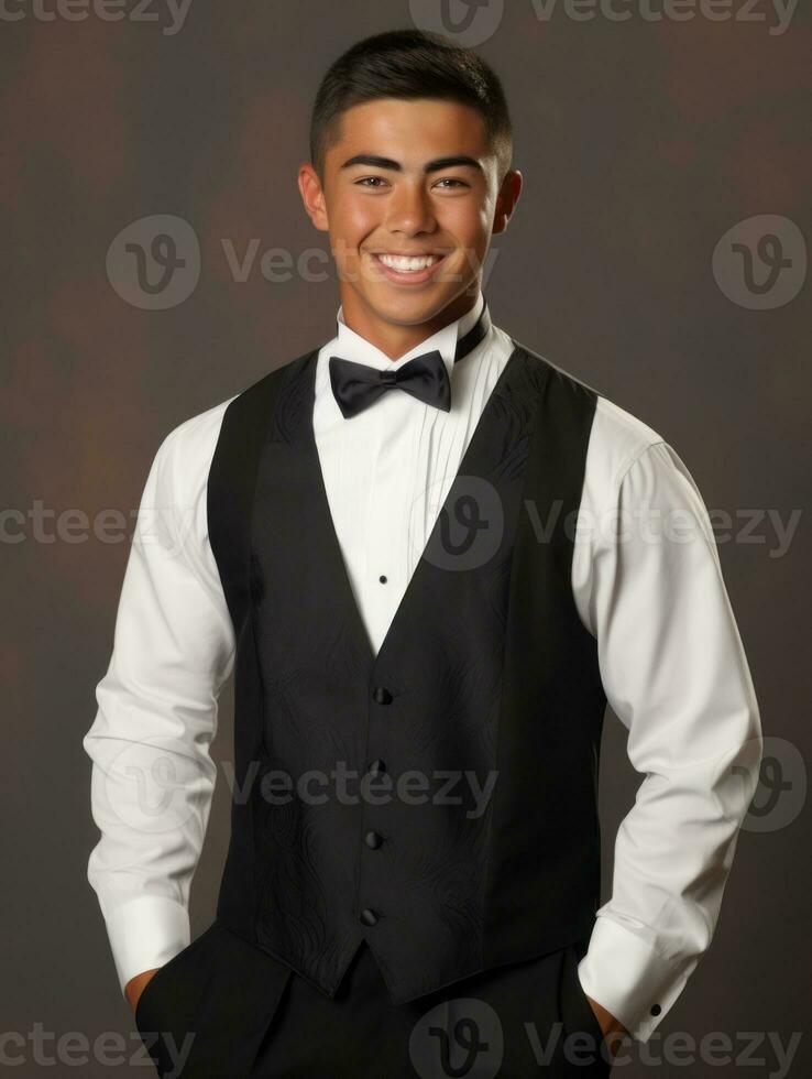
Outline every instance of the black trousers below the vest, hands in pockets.
[[603, 1077], [586, 941], [392, 1004], [369, 946], [333, 999], [217, 923], [149, 982], [135, 1024], [163, 1079]]

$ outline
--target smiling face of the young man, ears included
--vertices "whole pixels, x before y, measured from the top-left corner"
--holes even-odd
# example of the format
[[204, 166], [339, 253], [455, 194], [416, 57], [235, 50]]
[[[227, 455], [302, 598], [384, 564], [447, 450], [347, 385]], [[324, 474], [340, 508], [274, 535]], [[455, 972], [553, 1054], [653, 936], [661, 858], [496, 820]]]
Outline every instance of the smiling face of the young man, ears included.
[[[520, 176], [508, 173], [500, 190], [474, 109], [383, 98], [341, 116], [323, 186], [304, 165], [299, 187], [314, 225], [329, 230], [345, 315], [380, 329], [441, 324], [470, 308]], [[399, 255], [428, 262], [393, 264]]]

